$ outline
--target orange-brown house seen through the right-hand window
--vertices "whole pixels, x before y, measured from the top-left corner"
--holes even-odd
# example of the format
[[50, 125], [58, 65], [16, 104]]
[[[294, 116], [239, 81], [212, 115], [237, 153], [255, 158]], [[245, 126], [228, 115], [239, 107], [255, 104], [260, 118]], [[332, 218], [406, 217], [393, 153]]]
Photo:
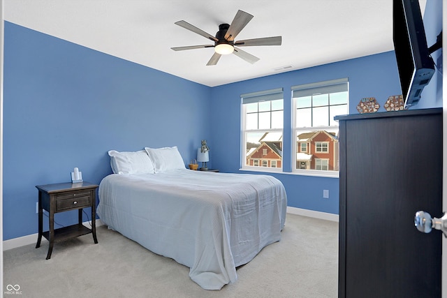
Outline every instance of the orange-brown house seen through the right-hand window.
[[335, 133], [311, 131], [297, 136], [296, 168], [339, 170], [338, 140]]

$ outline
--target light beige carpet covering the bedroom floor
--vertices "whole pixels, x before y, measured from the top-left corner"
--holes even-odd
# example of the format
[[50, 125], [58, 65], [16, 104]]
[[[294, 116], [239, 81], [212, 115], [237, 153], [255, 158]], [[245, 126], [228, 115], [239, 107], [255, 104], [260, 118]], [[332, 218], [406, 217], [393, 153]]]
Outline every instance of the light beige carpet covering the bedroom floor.
[[338, 223], [287, 214], [281, 241], [237, 269], [238, 280], [219, 291], [203, 290], [189, 268], [156, 255], [121, 234], [97, 228], [41, 248], [3, 252], [3, 295], [20, 285], [20, 297], [337, 297]]

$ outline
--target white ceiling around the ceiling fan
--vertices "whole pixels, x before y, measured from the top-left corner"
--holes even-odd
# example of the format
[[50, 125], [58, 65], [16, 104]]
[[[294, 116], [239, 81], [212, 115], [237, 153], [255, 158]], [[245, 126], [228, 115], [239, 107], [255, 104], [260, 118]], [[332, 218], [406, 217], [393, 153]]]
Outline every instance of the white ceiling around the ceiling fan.
[[[393, 50], [391, 0], [4, 0], [4, 18], [210, 87]], [[212, 44], [174, 23], [210, 33], [237, 10], [254, 18], [236, 40], [282, 36], [280, 46], [244, 47], [256, 64], [231, 54], [206, 66]]]

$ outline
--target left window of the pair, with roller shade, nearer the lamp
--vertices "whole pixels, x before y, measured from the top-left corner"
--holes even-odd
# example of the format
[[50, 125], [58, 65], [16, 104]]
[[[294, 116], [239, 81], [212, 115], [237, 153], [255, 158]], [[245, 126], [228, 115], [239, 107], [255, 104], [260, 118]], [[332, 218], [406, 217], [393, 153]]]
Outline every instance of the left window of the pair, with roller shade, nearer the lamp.
[[[242, 94], [242, 168], [281, 170], [284, 126], [283, 90]], [[270, 161], [270, 162], [269, 162]]]

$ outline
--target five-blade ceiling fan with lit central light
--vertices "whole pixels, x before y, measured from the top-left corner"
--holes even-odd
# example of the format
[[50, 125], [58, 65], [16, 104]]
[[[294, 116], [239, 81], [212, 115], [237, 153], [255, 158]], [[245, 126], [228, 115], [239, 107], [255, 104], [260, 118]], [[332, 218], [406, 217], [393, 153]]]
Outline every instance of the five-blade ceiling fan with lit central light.
[[233, 19], [233, 22], [231, 22], [231, 24], [219, 25], [219, 31], [216, 33], [216, 36], [212, 36], [211, 34], [189, 24], [188, 22], [175, 22], [175, 24], [183, 27], [184, 29], [188, 29], [190, 31], [193, 31], [194, 33], [197, 33], [205, 38], [214, 41], [214, 45], [190, 45], [186, 47], [171, 47], [171, 49], [175, 51], [183, 51], [202, 49], [205, 47], [214, 47], [214, 54], [212, 55], [210, 61], [208, 61], [207, 66], [216, 65], [221, 55], [232, 53], [235, 54], [237, 57], [240, 57], [245, 61], [254, 64], [256, 61], [259, 60], [259, 58], [240, 50], [238, 47], [248, 47], [254, 45], [281, 45], [282, 38], [281, 36], [273, 36], [235, 41], [237, 34], [239, 34], [240, 31], [242, 31], [242, 29], [247, 26], [252, 18], [253, 15], [245, 13], [242, 10], [237, 10], [235, 18]]

